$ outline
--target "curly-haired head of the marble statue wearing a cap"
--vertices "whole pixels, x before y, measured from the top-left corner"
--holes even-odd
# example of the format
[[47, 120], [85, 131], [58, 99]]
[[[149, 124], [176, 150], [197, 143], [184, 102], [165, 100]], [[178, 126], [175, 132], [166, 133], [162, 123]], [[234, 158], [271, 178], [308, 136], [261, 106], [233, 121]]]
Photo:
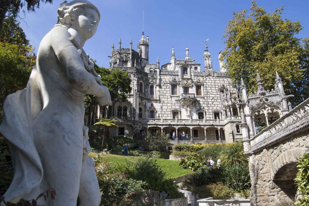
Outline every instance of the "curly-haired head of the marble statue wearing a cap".
[[68, 28], [77, 24], [75, 27], [80, 28], [79, 32], [87, 32], [88, 35], [93, 36], [99, 23], [100, 12], [87, 0], [74, 0], [69, 3], [65, 1], [60, 4], [57, 17], [58, 24]]

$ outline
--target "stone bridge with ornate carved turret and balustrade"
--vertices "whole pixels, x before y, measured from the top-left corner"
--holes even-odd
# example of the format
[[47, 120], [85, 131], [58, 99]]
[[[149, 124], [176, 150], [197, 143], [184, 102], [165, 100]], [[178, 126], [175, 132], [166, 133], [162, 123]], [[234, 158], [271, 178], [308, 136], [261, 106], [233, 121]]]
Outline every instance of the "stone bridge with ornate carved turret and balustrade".
[[[281, 80], [278, 74], [275, 87], [277, 97], [269, 95], [267, 98], [267, 93], [252, 97], [243, 95], [241, 128], [244, 153], [249, 158], [252, 183], [250, 200], [253, 205], [293, 203], [297, 196], [294, 184], [297, 162], [303, 153], [309, 151], [309, 99], [292, 109], [288, 106], [284, 92], [280, 94], [280, 89], [283, 91], [282, 82], [277, 80]], [[245, 89], [243, 87], [243, 93]], [[270, 98], [277, 98], [281, 102], [273, 104]], [[271, 113], [277, 113], [278, 118], [269, 124], [267, 117], [274, 115]], [[259, 115], [264, 117], [267, 124], [256, 134], [255, 120]]]

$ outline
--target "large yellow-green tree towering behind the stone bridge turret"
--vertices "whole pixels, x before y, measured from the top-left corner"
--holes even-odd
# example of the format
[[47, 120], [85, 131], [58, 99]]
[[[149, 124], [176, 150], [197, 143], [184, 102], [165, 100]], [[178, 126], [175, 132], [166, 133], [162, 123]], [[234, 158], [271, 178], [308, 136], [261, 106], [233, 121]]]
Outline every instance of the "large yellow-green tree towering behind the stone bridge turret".
[[[308, 40], [305, 44], [295, 37], [302, 26], [298, 21], [282, 19], [283, 6], [274, 12], [252, 1], [250, 13], [247, 10], [233, 12], [233, 19], [223, 37], [226, 48], [222, 59], [226, 60], [228, 74], [235, 84], [243, 78], [248, 92], [256, 91], [256, 71], [258, 70], [266, 90], [274, 88], [275, 72], [280, 74], [285, 92], [293, 94], [304, 90], [308, 79], [304, 74], [308, 62]], [[303, 79], [303, 81], [296, 81]], [[303, 101], [302, 96], [294, 98], [294, 105]]]

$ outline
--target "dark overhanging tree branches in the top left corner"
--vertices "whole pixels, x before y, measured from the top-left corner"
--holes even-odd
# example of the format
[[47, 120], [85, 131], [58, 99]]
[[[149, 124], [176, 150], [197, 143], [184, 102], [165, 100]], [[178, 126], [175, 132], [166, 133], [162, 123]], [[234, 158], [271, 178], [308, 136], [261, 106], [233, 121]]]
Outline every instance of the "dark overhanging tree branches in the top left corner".
[[40, 7], [40, 3], [53, 3], [53, 0], [1, 0], [0, 1], [0, 31], [2, 30], [2, 24], [6, 17], [6, 12], [11, 11], [16, 17], [20, 9], [23, 12], [34, 12], [35, 8]]

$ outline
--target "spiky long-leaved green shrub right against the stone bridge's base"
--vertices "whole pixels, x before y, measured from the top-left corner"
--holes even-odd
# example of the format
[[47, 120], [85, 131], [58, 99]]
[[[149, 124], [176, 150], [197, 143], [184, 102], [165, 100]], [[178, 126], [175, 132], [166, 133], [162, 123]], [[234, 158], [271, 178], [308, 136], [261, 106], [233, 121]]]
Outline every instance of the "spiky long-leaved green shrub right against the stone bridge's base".
[[222, 170], [222, 181], [235, 192], [241, 193], [251, 187], [248, 164], [235, 164], [224, 167]]

